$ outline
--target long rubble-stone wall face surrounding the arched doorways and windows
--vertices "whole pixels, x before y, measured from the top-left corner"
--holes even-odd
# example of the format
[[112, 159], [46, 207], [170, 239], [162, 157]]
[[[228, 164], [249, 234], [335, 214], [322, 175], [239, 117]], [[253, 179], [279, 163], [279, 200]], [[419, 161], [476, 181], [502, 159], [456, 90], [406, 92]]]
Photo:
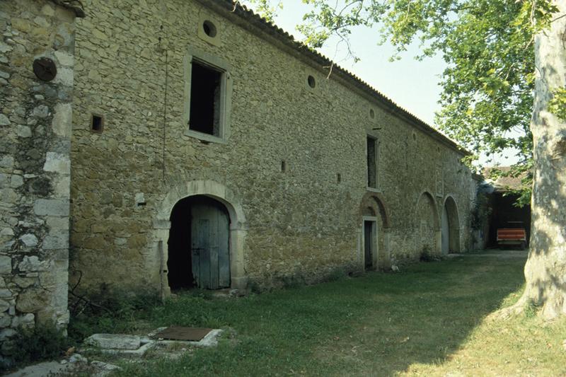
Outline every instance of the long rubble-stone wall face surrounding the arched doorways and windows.
[[[326, 79], [321, 66], [235, 14], [202, 5], [222, 1], [83, 2], [91, 17], [77, 21], [71, 264], [84, 289], [158, 290], [152, 232], [167, 224], [156, 225], [156, 214], [174, 187], [204, 180], [228, 187], [241, 204], [243, 271], [252, 281], [316, 281], [360, 268], [360, 206], [374, 195], [366, 189], [368, 134], [379, 140], [382, 202], [374, 209], [389, 215], [387, 229], [379, 224], [387, 233], [382, 252], [418, 257], [423, 192], [436, 200], [438, 219], [446, 195], [456, 199], [466, 250], [470, 172], [441, 138], [339, 76]], [[203, 19], [216, 24], [215, 43], [199, 36]], [[230, 65], [226, 144], [185, 134], [188, 48]], [[103, 115], [102, 133], [91, 132], [92, 114]]]

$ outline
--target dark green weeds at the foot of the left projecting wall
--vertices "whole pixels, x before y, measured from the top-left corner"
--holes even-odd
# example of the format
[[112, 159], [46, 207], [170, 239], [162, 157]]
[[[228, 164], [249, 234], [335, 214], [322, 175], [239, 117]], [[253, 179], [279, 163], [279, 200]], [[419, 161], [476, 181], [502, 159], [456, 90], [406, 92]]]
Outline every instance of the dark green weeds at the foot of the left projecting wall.
[[61, 356], [67, 350], [67, 337], [54, 325], [19, 327], [12, 345], [16, 364], [27, 364]]

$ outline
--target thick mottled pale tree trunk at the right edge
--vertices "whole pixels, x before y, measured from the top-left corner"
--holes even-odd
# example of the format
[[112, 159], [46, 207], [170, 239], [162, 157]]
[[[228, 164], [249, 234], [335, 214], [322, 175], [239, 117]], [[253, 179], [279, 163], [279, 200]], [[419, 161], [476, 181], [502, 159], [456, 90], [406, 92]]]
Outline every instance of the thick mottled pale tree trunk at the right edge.
[[[564, 16], [566, 0], [553, 4], [553, 18]], [[551, 91], [566, 85], [566, 17], [536, 35], [535, 64], [531, 250], [516, 308], [533, 303], [550, 319], [566, 314], [566, 124], [548, 111]]]

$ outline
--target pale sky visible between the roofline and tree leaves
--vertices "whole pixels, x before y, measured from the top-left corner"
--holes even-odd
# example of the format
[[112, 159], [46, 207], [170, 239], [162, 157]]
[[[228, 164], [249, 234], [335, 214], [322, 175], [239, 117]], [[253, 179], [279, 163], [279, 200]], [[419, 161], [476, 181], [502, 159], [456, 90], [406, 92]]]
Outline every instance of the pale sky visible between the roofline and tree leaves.
[[[272, 4], [276, 4], [276, 1], [272, 1]], [[308, 6], [301, 0], [282, 0], [282, 4], [283, 8], [277, 11], [275, 24], [294, 35], [296, 40], [303, 40], [304, 36], [296, 30], [296, 25], [301, 23]], [[442, 90], [439, 86], [440, 75], [446, 68], [446, 63], [439, 55], [422, 61], [415, 59], [422, 52], [418, 42], [408, 47], [402, 59], [391, 62], [390, 58], [395, 50], [388, 43], [378, 45], [378, 28], [360, 27], [352, 31], [351, 47], [360, 59], [359, 62], [354, 62], [351, 57], [347, 58], [346, 47], [337, 46], [336, 39], [328, 41], [318, 51], [369, 83], [401, 108], [435, 127], [434, 113], [440, 110], [438, 101]], [[483, 165], [486, 161], [485, 156], [480, 156], [480, 164]], [[509, 151], [503, 156], [495, 157], [489, 165], [509, 165], [515, 161], [514, 153]]]

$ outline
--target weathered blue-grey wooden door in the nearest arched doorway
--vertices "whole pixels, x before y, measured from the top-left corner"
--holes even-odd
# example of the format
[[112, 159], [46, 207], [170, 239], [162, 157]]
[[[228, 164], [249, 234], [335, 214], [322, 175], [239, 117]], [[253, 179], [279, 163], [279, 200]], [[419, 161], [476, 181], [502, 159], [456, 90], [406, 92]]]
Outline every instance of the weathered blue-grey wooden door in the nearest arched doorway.
[[191, 208], [192, 276], [199, 288], [230, 286], [229, 216], [211, 204]]

